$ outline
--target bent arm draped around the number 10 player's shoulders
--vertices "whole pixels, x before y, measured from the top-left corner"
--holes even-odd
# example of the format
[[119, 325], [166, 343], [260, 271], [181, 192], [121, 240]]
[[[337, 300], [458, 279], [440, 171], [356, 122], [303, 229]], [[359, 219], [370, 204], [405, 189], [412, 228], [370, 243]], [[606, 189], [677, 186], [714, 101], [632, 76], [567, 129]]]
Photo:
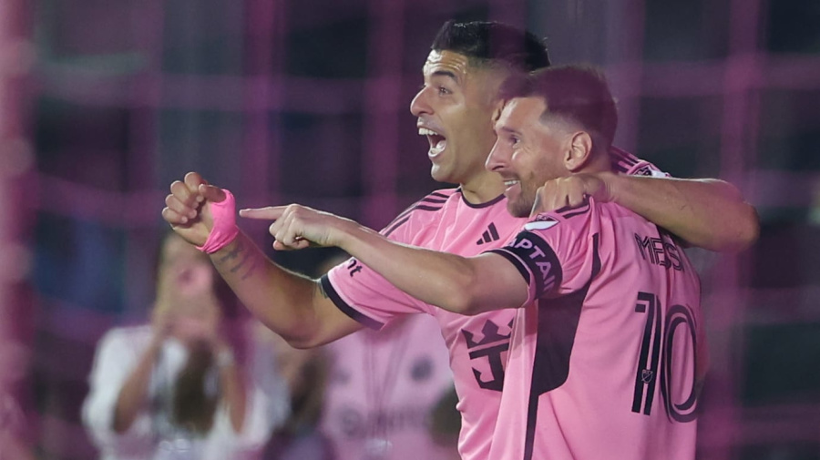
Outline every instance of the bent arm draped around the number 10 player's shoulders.
[[719, 179], [576, 174], [544, 184], [533, 212], [577, 205], [584, 194], [615, 201], [706, 250], [745, 250], [760, 231], [757, 211], [738, 189]]

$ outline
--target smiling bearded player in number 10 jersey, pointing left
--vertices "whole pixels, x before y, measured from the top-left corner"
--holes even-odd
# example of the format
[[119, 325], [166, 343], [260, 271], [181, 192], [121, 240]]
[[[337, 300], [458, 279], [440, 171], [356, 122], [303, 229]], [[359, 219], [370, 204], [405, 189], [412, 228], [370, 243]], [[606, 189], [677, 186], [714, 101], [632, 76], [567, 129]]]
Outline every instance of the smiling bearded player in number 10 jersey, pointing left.
[[[539, 184], [608, 171], [617, 123], [600, 73], [538, 72], [496, 123], [487, 169], [527, 218]], [[267, 210], [275, 248], [339, 246], [450, 312], [518, 309], [490, 455], [691, 460], [705, 370], [700, 281], [664, 230], [617, 203], [539, 213], [474, 257], [396, 244], [298, 206]]]

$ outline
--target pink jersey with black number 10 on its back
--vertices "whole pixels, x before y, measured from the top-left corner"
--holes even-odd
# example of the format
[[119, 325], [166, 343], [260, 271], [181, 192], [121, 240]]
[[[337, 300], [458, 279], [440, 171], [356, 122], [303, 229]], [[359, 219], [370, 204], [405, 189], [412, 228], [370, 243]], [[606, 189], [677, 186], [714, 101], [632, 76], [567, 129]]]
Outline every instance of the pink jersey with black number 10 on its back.
[[692, 460], [705, 369], [700, 281], [651, 222], [589, 199], [502, 249], [528, 281], [493, 460]]

